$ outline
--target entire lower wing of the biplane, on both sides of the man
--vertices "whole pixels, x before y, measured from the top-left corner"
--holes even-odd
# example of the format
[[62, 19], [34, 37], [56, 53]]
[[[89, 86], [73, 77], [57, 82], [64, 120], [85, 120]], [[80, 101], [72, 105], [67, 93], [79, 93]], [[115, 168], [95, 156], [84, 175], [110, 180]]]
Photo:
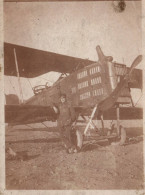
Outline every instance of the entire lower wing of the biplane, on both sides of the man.
[[[76, 113], [83, 116], [90, 116], [90, 108], [76, 107]], [[142, 119], [143, 110], [137, 107], [121, 107], [120, 119]], [[97, 115], [94, 119], [100, 119]], [[104, 120], [116, 120], [116, 108], [111, 108], [103, 113]], [[5, 123], [10, 125], [39, 123], [44, 121], [56, 121], [57, 114], [51, 106], [35, 105], [5, 105]]]

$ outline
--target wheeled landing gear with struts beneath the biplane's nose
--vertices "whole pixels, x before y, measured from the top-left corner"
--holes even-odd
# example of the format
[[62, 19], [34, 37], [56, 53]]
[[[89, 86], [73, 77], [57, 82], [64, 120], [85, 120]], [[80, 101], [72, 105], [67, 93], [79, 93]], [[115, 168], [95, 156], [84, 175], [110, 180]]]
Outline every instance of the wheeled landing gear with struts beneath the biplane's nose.
[[[97, 111], [97, 106], [94, 107], [92, 110], [92, 114], [89, 117], [89, 120], [86, 120], [84, 116], [82, 118], [84, 119], [84, 122], [87, 122], [85, 130], [80, 131], [77, 129], [76, 124], [75, 124], [75, 146], [76, 148], [79, 148], [79, 150], [83, 146], [83, 142], [92, 142], [93, 140], [95, 142], [98, 142], [100, 140], [108, 140], [109, 143], [112, 143], [112, 145], [124, 145], [126, 142], [126, 130], [125, 128], [120, 124], [120, 109], [119, 109], [119, 104], [116, 106], [116, 123], [111, 124], [110, 129], [106, 129], [104, 125], [104, 120], [103, 120], [103, 114], [100, 115], [100, 120], [101, 120], [101, 128], [98, 128], [96, 124], [93, 122], [93, 118], [95, 115], [95, 112]], [[93, 128], [94, 133], [88, 133], [89, 128]]]

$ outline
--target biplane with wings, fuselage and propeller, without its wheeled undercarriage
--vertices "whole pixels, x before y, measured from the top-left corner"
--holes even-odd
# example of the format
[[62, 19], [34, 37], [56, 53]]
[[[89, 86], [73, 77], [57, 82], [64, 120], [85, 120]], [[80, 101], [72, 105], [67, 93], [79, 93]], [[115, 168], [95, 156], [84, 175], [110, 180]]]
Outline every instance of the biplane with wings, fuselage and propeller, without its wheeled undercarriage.
[[102, 121], [102, 129], [103, 120], [141, 119], [142, 109], [134, 106], [130, 89], [142, 89], [142, 70], [136, 69], [142, 56], [129, 68], [105, 56], [100, 46], [96, 50], [98, 61], [91, 61], [5, 43], [5, 75], [34, 78], [49, 71], [61, 73], [52, 86], [46, 83], [34, 87], [34, 95], [27, 101], [6, 104], [5, 122], [17, 125], [56, 121], [53, 105], [59, 104], [61, 93], [66, 94], [78, 116], [84, 120], [89, 116], [84, 135], [94, 126], [93, 119]]

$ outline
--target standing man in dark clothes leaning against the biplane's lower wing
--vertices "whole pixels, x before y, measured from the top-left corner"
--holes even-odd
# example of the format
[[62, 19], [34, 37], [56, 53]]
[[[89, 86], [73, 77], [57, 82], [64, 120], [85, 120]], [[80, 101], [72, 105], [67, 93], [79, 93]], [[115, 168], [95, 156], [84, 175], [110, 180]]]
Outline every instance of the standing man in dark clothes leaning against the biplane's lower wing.
[[54, 107], [54, 110], [55, 112], [59, 113], [57, 125], [60, 130], [63, 144], [69, 154], [77, 152], [71, 136], [72, 124], [76, 120], [76, 113], [74, 108], [67, 102], [65, 94], [60, 95], [60, 104], [58, 108], [59, 110], [56, 110], [56, 108]]

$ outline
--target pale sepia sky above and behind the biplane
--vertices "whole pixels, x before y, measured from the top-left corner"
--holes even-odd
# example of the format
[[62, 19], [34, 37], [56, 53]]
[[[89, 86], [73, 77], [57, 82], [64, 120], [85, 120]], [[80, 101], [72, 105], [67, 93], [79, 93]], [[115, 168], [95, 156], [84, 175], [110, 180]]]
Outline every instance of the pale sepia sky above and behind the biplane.
[[[114, 11], [112, 1], [5, 2], [4, 40], [95, 61], [95, 48], [100, 45], [105, 55], [130, 66], [142, 53], [141, 2], [127, 1], [122, 13]], [[29, 82], [35, 86], [45, 79], [54, 82], [58, 76], [50, 72], [29, 81], [22, 78], [24, 99], [33, 94]], [[5, 77], [5, 93], [15, 91], [19, 94], [17, 78]]]

